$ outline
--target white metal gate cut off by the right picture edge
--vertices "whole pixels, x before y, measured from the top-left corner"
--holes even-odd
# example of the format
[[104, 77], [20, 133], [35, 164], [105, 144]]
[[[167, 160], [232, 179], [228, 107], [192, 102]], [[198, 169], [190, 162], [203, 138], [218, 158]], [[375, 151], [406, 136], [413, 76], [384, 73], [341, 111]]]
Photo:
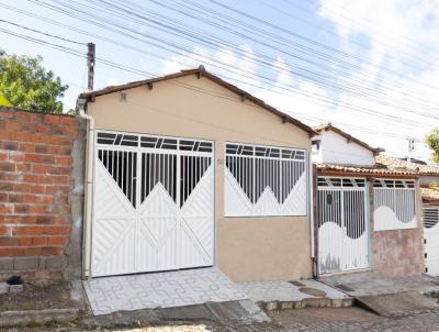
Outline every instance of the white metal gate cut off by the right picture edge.
[[439, 207], [424, 207], [425, 272], [439, 276]]

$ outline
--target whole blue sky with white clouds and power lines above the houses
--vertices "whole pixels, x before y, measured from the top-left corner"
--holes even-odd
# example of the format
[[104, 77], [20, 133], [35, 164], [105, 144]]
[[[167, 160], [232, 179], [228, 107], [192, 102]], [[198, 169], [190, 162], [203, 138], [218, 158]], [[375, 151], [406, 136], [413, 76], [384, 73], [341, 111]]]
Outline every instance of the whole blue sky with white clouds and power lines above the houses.
[[[435, 0], [0, 0], [0, 19], [93, 42], [99, 58], [143, 73], [98, 63], [95, 88], [203, 64], [307, 124], [331, 121], [393, 154], [414, 137], [414, 156], [429, 157], [424, 136], [439, 120]], [[72, 107], [87, 86], [85, 58], [4, 30], [83, 54], [86, 46], [0, 29], [5, 52], [44, 57], [70, 86], [64, 101]]]

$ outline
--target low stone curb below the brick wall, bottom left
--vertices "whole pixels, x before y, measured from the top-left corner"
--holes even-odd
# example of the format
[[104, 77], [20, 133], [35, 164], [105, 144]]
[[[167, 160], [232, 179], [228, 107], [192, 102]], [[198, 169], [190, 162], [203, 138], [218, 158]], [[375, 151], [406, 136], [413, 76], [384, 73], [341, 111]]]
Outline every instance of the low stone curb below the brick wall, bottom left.
[[0, 327], [47, 323], [50, 321], [71, 322], [79, 317], [79, 309], [16, 310], [0, 312]]

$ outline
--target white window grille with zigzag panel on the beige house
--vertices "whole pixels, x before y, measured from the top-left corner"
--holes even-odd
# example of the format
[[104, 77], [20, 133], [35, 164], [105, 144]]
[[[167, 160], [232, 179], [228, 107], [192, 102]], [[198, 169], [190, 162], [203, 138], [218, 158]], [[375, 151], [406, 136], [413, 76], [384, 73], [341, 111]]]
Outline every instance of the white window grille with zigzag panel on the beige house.
[[306, 214], [306, 174], [303, 150], [226, 143], [226, 217]]

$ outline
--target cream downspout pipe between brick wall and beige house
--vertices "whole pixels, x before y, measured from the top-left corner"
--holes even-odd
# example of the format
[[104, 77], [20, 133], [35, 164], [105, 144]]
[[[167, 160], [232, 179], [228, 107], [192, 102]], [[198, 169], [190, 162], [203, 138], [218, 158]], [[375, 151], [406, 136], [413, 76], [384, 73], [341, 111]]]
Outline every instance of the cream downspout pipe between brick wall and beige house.
[[82, 256], [83, 277], [90, 279], [91, 268], [91, 229], [92, 229], [92, 200], [93, 200], [93, 161], [94, 161], [94, 118], [86, 113], [86, 99], [78, 99], [77, 109], [79, 118], [88, 121], [87, 131], [87, 155], [86, 155], [86, 195], [85, 195], [85, 207], [83, 215], [85, 219], [85, 232], [83, 232], [83, 245]]

